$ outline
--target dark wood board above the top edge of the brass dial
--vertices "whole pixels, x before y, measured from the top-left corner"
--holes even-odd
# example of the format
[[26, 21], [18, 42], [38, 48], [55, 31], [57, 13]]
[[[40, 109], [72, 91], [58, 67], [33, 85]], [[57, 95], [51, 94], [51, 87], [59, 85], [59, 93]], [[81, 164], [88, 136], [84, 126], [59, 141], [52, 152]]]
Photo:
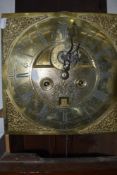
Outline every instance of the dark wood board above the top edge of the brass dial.
[[106, 12], [106, 0], [16, 0], [16, 12]]

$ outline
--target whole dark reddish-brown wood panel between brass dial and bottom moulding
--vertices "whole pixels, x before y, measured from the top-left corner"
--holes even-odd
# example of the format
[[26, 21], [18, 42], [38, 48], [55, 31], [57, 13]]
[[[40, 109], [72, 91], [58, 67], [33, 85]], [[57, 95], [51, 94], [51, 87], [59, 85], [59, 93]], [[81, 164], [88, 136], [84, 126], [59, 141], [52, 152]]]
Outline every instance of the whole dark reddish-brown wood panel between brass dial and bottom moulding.
[[36, 152], [43, 157], [117, 155], [117, 134], [71, 136], [10, 135], [11, 152]]

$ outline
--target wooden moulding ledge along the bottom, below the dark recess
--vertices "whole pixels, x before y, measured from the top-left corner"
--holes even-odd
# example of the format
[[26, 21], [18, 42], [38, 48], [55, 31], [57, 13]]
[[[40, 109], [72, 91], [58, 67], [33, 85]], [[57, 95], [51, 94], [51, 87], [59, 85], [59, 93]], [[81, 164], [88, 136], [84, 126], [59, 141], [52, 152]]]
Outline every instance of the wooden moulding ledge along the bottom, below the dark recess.
[[5, 153], [0, 160], [0, 172], [40, 174], [117, 174], [117, 157], [40, 158], [36, 154]]

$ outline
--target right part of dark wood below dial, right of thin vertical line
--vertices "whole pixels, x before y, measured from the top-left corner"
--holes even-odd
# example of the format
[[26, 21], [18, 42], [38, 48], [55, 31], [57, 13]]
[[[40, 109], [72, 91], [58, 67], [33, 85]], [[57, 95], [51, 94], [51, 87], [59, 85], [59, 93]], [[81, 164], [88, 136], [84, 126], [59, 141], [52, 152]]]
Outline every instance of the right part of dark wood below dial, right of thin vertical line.
[[76, 135], [70, 142], [72, 155], [117, 155], [117, 133]]

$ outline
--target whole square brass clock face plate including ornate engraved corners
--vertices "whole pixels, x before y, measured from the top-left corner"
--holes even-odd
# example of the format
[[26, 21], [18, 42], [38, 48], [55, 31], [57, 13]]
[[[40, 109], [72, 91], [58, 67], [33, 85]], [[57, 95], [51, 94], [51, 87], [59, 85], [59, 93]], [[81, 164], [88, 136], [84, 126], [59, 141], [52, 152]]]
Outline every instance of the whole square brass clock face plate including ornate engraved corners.
[[114, 24], [112, 31], [108, 30], [109, 20], [117, 21], [116, 15], [38, 13], [5, 17], [7, 132], [116, 131]]

